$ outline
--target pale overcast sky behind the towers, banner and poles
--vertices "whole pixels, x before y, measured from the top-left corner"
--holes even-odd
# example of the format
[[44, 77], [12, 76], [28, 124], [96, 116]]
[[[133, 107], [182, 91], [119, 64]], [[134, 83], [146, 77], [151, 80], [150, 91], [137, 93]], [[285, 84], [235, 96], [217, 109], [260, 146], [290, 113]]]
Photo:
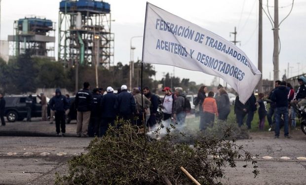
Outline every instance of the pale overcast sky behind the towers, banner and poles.
[[[105, 0], [111, 4], [112, 32], [115, 33], [115, 64], [127, 64], [130, 60], [130, 39], [142, 36], [146, 0]], [[263, 0], [267, 11], [267, 1]], [[60, 0], [2, 0], [1, 1], [1, 39], [13, 34], [13, 21], [28, 15], [44, 16], [58, 22]], [[202, 28], [233, 40], [230, 32], [237, 27], [237, 40], [246, 55], [257, 66], [258, 63], [258, 9], [259, 0], [150, 0], [150, 3], [169, 11]], [[274, 1], [269, 0], [269, 10], [273, 16]], [[279, 20], [290, 11], [292, 0], [279, 0]], [[263, 12], [263, 77], [273, 79], [273, 32], [271, 23]], [[57, 35], [56, 35], [57, 37]], [[279, 37], [281, 51], [279, 55], [280, 77], [289, 63], [289, 76], [306, 72], [306, 0], [294, 0], [289, 17], [280, 25]], [[56, 38], [57, 40], [57, 38]], [[141, 59], [142, 38], [133, 38], [136, 47], [134, 59]], [[57, 47], [57, 43], [56, 43]], [[299, 64], [300, 63], [300, 64]], [[173, 73], [173, 67], [154, 65], [156, 79], [162, 73]], [[196, 83], [210, 85], [213, 76], [200, 72], [191, 72], [175, 68], [175, 76], [190, 78]], [[292, 72], [292, 73], [291, 73]]]

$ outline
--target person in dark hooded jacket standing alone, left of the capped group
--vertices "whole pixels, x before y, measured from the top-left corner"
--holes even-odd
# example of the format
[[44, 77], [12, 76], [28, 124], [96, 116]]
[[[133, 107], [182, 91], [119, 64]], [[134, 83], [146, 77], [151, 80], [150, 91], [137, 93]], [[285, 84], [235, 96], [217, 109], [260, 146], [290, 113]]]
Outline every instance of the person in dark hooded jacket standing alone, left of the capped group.
[[49, 105], [50, 109], [55, 112], [56, 136], [64, 136], [66, 132], [65, 111], [69, 109], [69, 103], [60, 89], [55, 90], [55, 96], [51, 98]]

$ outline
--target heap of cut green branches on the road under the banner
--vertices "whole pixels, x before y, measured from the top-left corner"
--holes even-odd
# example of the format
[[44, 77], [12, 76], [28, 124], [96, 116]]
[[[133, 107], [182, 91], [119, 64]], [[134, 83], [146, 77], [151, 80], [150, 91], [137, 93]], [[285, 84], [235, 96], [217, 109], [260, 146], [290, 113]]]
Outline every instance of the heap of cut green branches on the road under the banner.
[[[119, 126], [120, 125], [120, 126]], [[139, 127], [120, 120], [106, 136], [93, 139], [86, 154], [69, 160], [68, 174], [56, 174], [56, 185], [158, 185], [168, 180], [175, 185], [192, 184], [183, 174], [184, 167], [200, 184], [220, 184], [226, 166], [236, 167], [235, 159], [252, 162], [255, 177], [259, 174], [256, 161], [235, 140], [200, 137], [188, 143], [178, 143], [167, 128], [160, 140], [150, 141]]]

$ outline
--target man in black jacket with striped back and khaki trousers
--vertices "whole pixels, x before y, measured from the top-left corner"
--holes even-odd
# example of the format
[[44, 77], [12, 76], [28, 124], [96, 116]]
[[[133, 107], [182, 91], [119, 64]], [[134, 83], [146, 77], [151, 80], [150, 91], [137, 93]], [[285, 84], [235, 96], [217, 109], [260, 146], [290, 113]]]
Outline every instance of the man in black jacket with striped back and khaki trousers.
[[83, 89], [76, 93], [75, 103], [77, 110], [76, 137], [88, 137], [88, 123], [93, 104], [88, 82], [84, 82]]

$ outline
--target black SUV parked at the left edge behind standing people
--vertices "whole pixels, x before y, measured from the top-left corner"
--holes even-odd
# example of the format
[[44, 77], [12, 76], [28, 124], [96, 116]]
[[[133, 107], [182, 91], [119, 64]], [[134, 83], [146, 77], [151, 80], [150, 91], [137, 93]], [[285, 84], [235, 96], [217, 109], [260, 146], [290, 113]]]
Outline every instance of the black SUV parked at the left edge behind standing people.
[[[28, 96], [14, 95], [6, 96], [5, 99], [5, 111], [6, 119], [8, 122], [21, 121], [27, 117], [26, 99]], [[33, 95], [33, 110], [32, 117], [41, 117], [41, 101], [37, 95]], [[47, 98], [49, 102], [49, 98]]]

